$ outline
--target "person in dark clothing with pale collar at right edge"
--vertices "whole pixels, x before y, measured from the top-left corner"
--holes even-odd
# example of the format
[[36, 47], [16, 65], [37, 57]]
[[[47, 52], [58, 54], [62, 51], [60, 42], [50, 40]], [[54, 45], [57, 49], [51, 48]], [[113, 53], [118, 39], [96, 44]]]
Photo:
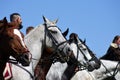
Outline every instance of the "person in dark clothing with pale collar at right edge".
[[107, 51], [101, 59], [120, 61], [120, 36], [116, 35]]

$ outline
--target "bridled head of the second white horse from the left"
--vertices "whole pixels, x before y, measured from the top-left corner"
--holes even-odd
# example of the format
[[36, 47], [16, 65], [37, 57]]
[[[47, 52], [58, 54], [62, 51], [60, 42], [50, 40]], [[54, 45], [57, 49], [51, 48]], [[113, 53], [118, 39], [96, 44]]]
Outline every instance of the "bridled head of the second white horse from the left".
[[72, 33], [69, 41], [72, 45], [74, 54], [76, 53], [75, 57], [80, 61], [81, 64], [86, 65], [86, 68], [89, 71], [93, 71], [94, 69], [98, 69], [100, 67], [100, 61], [95, 57], [85, 42], [78, 38], [77, 34]]

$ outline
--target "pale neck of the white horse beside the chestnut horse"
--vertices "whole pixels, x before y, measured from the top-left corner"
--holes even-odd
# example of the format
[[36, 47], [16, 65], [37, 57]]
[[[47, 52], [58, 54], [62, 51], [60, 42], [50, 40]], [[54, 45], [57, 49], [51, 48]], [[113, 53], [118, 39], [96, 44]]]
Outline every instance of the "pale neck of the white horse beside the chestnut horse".
[[35, 69], [43, 52], [44, 29], [43, 25], [39, 25], [25, 36], [25, 44], [31, 52], [32, 58], [36, 59], [32, 59], [33, 69]]

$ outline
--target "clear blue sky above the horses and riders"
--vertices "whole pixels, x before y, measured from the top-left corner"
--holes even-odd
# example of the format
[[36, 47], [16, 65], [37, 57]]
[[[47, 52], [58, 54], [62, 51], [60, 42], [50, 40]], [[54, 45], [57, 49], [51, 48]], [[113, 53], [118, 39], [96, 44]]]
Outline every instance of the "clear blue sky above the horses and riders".
[[[21, 14], [24, 34], [28, 26], [43, 24], [42, 16], [58, 19], [57, 26], [77, 33], [96, 54], [103, 56], [114, 36], [120, 35], [120, 0], [0, 0], [0, 19]], [[67, 38], [68, 38], [67, 36]]]

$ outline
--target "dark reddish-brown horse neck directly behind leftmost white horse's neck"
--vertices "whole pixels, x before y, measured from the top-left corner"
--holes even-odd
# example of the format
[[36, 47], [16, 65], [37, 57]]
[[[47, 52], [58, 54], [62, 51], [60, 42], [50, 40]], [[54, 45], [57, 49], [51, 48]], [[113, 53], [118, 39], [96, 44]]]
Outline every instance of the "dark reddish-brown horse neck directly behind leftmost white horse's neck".
[[35, 75], [37, 76], [38, 80], [45, 80], [46, 75], [52, 65], [52, 61], [49, 59], [52, 51], [50, 49], [45, 49], [41, 56], [41, 59], [36, 66]]

